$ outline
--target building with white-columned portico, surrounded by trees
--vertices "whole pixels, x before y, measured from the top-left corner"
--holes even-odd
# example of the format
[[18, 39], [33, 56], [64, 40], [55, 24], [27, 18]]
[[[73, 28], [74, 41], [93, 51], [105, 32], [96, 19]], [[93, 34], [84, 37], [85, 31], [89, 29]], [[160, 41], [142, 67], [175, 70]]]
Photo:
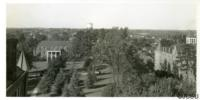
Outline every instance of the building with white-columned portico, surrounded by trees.
[[70, 51], [69, 42], [67, 41], [41, 41], [35, 51], [35, 56], [48, 61], [61, 55], [61, 51]]

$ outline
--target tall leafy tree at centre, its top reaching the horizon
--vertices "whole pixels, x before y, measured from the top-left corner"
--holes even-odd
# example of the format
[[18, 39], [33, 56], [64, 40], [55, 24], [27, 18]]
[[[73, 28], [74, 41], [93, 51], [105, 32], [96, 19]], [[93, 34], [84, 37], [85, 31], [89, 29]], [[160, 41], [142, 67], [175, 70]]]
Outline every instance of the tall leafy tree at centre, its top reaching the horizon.
[[[123, 69], [129, 66], [124, 51], [126, 50], [127, 30], [110, 30], [105, 34], [102, 42], [93, 48], [96, 65], [106, 63], [113, 70], [113, 80], [117, 87], [121, 83]], [[100, 49], [100, 50], [99, 50]]]

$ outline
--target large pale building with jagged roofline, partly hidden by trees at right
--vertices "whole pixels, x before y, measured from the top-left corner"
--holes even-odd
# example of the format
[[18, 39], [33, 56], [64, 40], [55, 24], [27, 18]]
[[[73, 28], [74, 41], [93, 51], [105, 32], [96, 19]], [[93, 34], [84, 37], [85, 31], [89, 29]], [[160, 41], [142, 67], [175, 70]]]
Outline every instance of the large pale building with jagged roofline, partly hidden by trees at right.
[[[188, 62], [183, 59], [186, 55], [183, 52], [184, 45], [175, 45], [169, 41], [167, 41], [167, 44], [162, 44], [161, 42], [158, 44], [154, 53], [154, 70], [167, 71], [183, 80], [195, 82], [193, 68], [196, 68], [196, 64], [194, 64], [195, 61], [193, 59]], [[190, 64], [186, 64], [186, 62]]]

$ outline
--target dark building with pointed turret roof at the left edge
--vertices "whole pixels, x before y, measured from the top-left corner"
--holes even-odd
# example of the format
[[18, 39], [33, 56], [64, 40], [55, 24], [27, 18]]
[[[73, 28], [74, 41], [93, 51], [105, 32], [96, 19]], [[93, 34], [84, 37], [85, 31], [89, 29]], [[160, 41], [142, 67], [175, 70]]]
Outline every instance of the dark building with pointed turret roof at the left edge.
[[17, 40], [7, 39], [6, 48], [6, 96], [26, 96], [26, 80], [28, 64], [22, 52], [17, 61]]

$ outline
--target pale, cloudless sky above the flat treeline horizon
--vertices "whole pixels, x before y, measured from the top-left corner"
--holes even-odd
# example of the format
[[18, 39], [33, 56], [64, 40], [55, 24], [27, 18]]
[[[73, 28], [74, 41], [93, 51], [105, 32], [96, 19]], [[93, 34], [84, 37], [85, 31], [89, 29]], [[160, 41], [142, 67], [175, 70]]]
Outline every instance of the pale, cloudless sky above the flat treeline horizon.
[[195, 29], [195, 2], [183, 1], [8, 3], [6, 26], [85, 28], [93, 23], [94, 28]]

